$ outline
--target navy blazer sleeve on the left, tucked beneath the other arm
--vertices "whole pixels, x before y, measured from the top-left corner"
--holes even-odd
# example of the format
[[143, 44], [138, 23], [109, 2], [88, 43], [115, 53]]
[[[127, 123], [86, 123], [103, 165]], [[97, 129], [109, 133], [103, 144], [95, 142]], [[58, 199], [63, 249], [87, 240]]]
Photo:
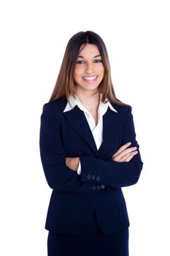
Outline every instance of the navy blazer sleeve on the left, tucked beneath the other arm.
[[[58, 116], [59, 118], [59, 116]], [[63, 192], [103, 192], [105, 187], [94, 191], [93, 182], [81, 181], [76, 171], [66, 166], [58, 121], [49, 103], [43, 106], [39, 134], [42, 167], [51, 189]]]

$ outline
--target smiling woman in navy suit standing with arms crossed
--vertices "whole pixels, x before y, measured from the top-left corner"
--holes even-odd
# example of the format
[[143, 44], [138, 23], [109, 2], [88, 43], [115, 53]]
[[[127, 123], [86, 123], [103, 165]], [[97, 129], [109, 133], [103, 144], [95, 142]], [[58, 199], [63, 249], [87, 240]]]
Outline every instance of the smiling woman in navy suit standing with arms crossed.
[[69, 40], [43, 107], [40, 154], [53, 189], [48, 256], [128, 255], [121, 187], [136, 184], [143, 163], [131, 106], [116, 98], [106, 46], [93, 31]]

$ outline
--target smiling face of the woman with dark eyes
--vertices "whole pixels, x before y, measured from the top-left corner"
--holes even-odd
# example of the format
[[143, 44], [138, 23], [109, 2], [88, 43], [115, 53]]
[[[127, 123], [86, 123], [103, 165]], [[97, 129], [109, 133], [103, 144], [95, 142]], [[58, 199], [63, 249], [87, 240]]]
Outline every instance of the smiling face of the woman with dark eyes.
[[87, 44], [85, 48], [80, 49], [73, 78], [79, 90], [98, 90], [98, 86], [104, 78], [104, 66], [96, 45]]

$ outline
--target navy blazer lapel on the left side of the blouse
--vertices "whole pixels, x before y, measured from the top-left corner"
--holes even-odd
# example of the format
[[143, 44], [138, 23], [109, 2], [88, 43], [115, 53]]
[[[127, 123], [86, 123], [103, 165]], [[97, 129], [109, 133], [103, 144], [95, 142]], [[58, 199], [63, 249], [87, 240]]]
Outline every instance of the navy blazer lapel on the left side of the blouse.
[[72, 127], [74, 127], [82, 139], [93, 149], [94, 153], [98, 155], [93, 134], [83, 111], [76, 105], [72, 110], [64, 112], [63, 115], [66, 116], [69, 123], [72, 124]]

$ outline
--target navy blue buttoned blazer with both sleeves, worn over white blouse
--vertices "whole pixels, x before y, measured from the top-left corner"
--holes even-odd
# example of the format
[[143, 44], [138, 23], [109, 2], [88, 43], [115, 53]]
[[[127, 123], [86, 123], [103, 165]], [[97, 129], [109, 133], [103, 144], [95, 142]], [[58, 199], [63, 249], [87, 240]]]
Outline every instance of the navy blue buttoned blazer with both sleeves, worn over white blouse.
[[[63, 113], [66, 98], [45, 103], [40, 126], [40, 155], [53, 189], [45, 228], [76, 235], [114, 234], [129, 226], [121, 187], [136, 184], [142, 170], [140, 153], [130, 162], [112, 161], [120, 146], [136, 141], [130, 106], [111, 103], [103, 116], [103, 143], [97, 150], [85, 114], [77, 106]], [[65, 157], [80, 157], [81, 175], [66, 166]]]

